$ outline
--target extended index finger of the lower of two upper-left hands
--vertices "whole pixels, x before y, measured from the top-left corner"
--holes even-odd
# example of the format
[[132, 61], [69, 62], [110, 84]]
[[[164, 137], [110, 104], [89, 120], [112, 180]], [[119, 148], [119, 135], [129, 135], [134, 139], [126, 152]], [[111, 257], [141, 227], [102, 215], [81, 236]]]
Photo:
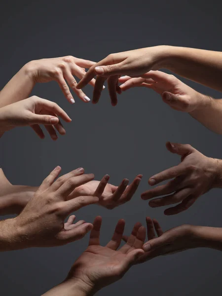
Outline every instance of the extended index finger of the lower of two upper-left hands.
[[[45, 99], [40, 99], [40, 100], [37, 100], [37, 104], [39, 104], [37, 108], [40, 108], [40, 110], [51, 111], [57, 116], [61, 117], [65, 122], [72, 121], [70, 116], [61, 107], [59, 107], [59, 105], [57, 105], [54, 102], [51, 102]], [[58, 123], [58, 120], [57, 120], [57, 123]], [[51, 124], [53, 124], [53, 122], [51, 122]]]

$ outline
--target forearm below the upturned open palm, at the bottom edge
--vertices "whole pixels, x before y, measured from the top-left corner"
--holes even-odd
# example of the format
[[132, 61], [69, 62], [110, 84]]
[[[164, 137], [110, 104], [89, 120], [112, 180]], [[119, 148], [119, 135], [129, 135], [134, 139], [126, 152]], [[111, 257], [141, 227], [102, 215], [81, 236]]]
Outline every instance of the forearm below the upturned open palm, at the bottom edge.
[[52, 288], [42, 296], [93, 296], [95, 293], [91, 287], [78, 281], [64, 281]]

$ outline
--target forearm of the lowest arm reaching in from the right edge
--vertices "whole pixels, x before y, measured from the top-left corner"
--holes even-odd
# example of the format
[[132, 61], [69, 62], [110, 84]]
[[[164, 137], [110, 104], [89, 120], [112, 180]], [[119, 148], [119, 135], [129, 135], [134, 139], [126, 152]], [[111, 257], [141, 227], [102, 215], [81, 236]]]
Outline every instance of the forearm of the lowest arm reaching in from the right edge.
[[212, 248], [222, 251], [222, 228], [193, 226], [197, 247]]

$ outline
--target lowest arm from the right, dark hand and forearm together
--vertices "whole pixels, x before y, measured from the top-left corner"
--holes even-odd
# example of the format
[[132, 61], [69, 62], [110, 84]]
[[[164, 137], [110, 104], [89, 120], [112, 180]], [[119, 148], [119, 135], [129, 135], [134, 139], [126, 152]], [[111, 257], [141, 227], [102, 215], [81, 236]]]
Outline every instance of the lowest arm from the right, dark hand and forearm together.
[[184, 224], [164, 232], [155, 219], [147, 217], [146, 222], [148, 242], [143, 246], [145, 254], [138, 259], [138, 263], [193, 248], [222, 251], [222, 228]]

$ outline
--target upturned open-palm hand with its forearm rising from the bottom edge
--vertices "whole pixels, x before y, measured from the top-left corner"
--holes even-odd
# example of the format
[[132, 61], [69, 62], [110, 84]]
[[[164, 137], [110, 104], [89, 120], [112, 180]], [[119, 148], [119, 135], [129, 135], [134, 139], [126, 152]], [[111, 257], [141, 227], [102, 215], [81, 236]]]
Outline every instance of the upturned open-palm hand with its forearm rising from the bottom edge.
[[103, 247], [100, 245], [101, 223], [102, 218], [96, 217], [88, 248], [74, 262], [66, 280], [46, 292], [44, 296], [92, 296], [105, 286], [121, 279], [144, 254], [141, 248], [146, 238], [145, 227], [135, 225], [135, 237], [130, 237], [126, 244], [119, 248], [125, 225], [121, 219], [115, 227], [111, 241]]

